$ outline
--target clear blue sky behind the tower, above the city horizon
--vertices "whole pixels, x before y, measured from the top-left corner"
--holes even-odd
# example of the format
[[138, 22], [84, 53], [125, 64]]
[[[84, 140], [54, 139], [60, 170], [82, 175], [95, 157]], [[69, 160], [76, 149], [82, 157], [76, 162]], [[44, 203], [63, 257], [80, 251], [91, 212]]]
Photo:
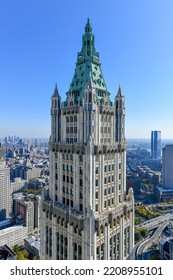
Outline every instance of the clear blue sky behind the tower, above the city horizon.
[[87, 18], [111, 99], [126, 100], [126, 137], [173, 139], [172, 0], [0, 0], [0, 138], [49, 137]]

